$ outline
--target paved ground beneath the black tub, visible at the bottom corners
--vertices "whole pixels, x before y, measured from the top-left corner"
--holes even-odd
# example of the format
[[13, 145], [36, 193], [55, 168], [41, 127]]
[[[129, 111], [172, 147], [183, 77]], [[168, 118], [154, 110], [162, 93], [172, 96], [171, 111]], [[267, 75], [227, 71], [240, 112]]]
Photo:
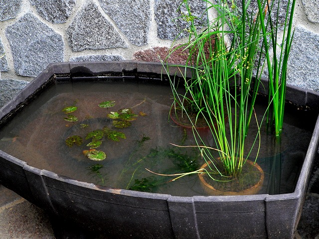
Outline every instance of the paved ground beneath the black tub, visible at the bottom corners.
[[[55, 239], [55, 237], [43, 210], [0, 185], [0, 239]], [[295, 239], [319, 239], [318, 193], [307, 195]]]

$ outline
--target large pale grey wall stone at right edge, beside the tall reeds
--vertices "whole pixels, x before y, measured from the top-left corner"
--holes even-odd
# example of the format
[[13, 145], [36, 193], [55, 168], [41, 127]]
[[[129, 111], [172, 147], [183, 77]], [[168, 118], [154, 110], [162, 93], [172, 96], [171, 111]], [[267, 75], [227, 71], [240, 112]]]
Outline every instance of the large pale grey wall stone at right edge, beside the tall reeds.
[[288, 60], [287, 83], [319, 91], [319, 34], [297, 27]]

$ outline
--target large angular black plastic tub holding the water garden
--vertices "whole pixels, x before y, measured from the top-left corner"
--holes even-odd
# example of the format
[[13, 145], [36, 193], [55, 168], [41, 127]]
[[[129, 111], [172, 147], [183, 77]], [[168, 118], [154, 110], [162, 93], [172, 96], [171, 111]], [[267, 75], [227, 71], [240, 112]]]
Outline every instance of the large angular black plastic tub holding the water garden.
[[[52, 84], [108, 77], [125, 81], [153, 78], [167, 84], [164, 72], [161, 64], [131, 61], [49, 65], [1, 109], [0, 127]], [[286, 98], [299, 106], [319, 107], [319, 94], [313, 91], [289, 86]], [[289, 239], [301, 215], [318, 144], [317, 120], [296, 188], [287, 194], [180, 197], [108, 188], [31, 167], [3, 151], [0, 183], [44, 209], [52, 219], [61, 220], [64, 229], [71, 222], [84, 228], [88, 238], [104, 232], [110, 238], [125, 239]], [[59, 224], [53, 223], [57, 229]], [[57, 229], [55, 234], [63, 233]]]

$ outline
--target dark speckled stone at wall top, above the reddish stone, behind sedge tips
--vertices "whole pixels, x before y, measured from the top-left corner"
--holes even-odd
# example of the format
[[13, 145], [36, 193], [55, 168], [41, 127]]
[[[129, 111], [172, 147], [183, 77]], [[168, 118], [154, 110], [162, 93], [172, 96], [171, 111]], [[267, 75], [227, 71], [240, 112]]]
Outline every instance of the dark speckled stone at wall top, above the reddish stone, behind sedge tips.
[[[181, 12], [188, 14], [184, 4], [177, 11], [180, 2], [179, 0], [155, 0], [155, 20], [159, 38], [174, 40], [188, 36], [188, 32], [184, 29], [189, 27], [189, 23], [182, 18], [178, 18], [181, 16]], [[194, 16], [202, 17], [202, 14], [205, 13], [206, 4], [203, 0], [189, 0], [189, 5]], [[207, 16], [204, 15], [202, 21], [196, 21], [195, 23], [197, 26], [203, 25], [206, 19]], [[181, 34], [178, 35], [179, 33]]]

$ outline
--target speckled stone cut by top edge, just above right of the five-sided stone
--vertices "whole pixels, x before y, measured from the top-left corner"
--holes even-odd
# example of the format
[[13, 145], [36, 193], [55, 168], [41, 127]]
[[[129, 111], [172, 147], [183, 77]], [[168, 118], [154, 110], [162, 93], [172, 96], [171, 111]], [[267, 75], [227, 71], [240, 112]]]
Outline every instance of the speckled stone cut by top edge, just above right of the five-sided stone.
[[47, 21], [64, 23], [72, 13], [75, 0], [30, 0], [37, 12]]

